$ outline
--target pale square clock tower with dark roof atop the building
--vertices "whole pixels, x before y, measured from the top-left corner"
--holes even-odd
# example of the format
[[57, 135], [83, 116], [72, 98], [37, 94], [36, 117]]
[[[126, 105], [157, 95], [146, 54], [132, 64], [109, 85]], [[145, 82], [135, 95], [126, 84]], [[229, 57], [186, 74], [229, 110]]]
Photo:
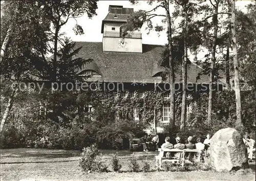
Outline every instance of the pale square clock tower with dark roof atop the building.
[[109, 13], [102, 20], [102, 47], [104, 52], [142, 53], [142, 37], [140, 31], [129, 32], [123, 36], [122, 27], [133, 13], [133, 8], [109, 6]]

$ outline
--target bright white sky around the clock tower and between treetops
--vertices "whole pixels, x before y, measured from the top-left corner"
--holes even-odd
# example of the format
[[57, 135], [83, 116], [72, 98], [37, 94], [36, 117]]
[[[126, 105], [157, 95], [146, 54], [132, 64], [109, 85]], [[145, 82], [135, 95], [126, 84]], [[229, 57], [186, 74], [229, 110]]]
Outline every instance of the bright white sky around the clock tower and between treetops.
[[[245, 6], [250, 4], [253, 1], [237, 1], [236, 7], [240, 10], [244, 9]], [[91, 42], [102, 42], [101, 34], [101, 23], [105, 16], [108, 14], [109, 5], [121, 5], [124, 8], [134, 8], [134, 11], [142, 10], [151, 10], [153, 6], [147, 5], [145, 1], [140, 1], [137, 5], [131, 5], [129, 1], [99, 1], [98, 9], [96, 10], [97, 16], [94, 16], [92, 19], [89, 19], [86, 15], [77, 18], [77, 24], [82, 26], [83, 35], [75, 35], [72, 28], [76, 25], [75, 19], [69, 19], [66, 26], [61, 29], [61, 32], [65, 32], [66, 36], [70, 37], [73, 41], [91, 41]], [[159, 9], [156, 13], [165, 14], [163, 9]], [[160, 17], [157, 17], [160, 18]], [[160, 19], [154, 19], [154, 22], [159, 22]], [[160, 33], [160, 36], [154, 31], [151, 31], [150, 34], [147, 35], [147, 31], [145, 30], [146, 26], [142, 26], [142, 43], [144, 44], [165, 44], [167, 43], [167, 37], [165, 31]]]

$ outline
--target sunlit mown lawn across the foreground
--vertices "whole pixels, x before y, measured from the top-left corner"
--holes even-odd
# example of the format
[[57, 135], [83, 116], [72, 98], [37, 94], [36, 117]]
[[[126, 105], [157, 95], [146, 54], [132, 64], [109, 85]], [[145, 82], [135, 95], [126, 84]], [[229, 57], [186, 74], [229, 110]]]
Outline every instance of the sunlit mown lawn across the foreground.
[[78, 166], [80, 151], [49, 149], [3, 149], [1, 150], [1, 180], [255, 180], [255, 162], [241, 172], [183, 171], [183, 172], [127, 172], [129, 160], [138, 157], [142, 167], [143, 160], [151, 162], [157, 152], [130, 152], [129, 150], [101, 150], [103, 159], [110, 166], [113, 153], [121, 159], [121, 173], [83, 173]]

